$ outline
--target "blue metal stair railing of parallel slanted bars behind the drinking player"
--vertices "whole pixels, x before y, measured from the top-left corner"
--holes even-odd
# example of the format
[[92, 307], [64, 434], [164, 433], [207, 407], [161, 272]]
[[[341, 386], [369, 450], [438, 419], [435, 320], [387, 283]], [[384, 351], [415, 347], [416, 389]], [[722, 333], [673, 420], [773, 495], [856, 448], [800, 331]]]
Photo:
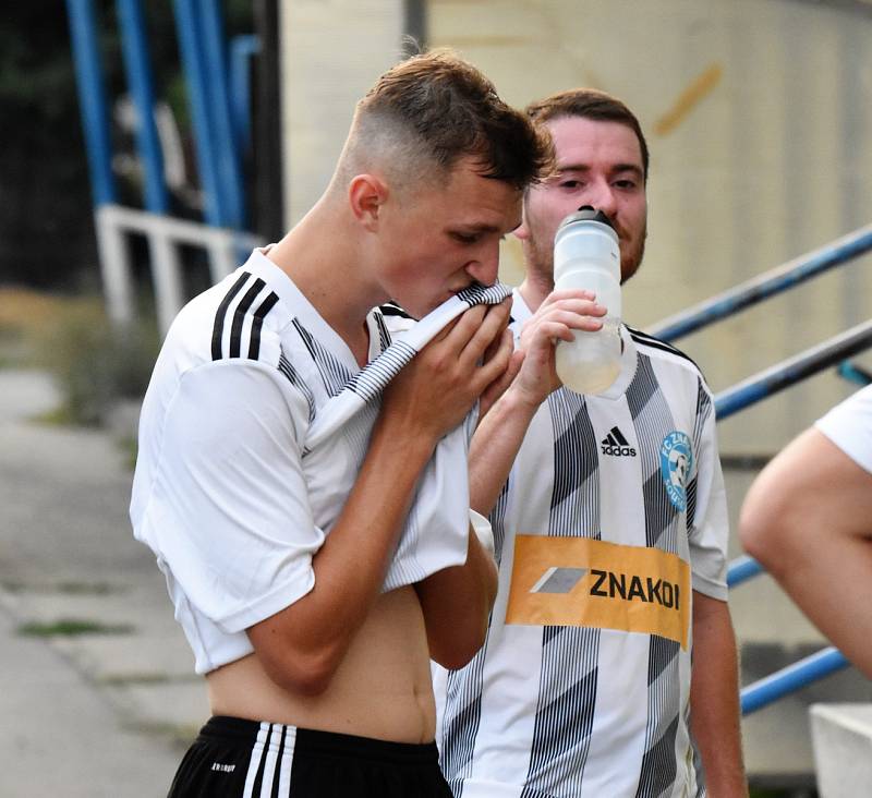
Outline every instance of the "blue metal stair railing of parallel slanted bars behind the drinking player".
[[[847, 263], [870, 250], [872, 250], [872, 225], [676, 314], [655, 325], [651, 331], [659, 338], [675, 340], [764, 299], [795, 288], [811, 277], [833, 266]], [[808, 349], [719, 392], [714, 400], [717, 420], [723, 421], [833, 365], [838, 365], [839, 374], [846, 378], [867, 384], [870, 375], [848, 363], [846, 359], [870, 347], [872, 347], [872, 321], [859, 324], [818, 347]], [[735, 588], [763, 572], [763, 566], [753, 557], [738, 557], [728, 566], [727, 585], [730, 589]], [[756, 712], [849, 665], [848, 660], [837, 649], [833, 646], [823, 649], [743, 688], [740, 696], [742, 714]]]

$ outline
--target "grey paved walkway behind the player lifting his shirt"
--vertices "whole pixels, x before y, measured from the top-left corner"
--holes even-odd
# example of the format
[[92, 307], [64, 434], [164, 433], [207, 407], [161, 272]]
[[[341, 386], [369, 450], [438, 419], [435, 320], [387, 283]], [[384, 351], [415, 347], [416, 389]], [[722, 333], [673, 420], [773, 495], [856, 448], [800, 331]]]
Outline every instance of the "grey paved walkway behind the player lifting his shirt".
[[[0, 371], [0, 796], [164, 796], [208, 714], [114, 436], [35, 424], [57, 396]], [[26, 625], [102, 633], [23, 633]]]

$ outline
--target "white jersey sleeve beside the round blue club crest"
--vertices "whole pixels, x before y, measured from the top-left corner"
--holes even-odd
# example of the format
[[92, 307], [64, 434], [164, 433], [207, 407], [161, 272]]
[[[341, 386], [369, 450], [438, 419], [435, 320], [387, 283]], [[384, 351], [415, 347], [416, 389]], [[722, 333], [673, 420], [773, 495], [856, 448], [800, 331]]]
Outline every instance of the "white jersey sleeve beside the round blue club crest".
[[727, 496], [717, 449], [714, 402], [702, 378], [698, 386], [694, 437], [697, 475], [694, 501], [688, 519], [692, 587], [712, 598], [726, 601]]

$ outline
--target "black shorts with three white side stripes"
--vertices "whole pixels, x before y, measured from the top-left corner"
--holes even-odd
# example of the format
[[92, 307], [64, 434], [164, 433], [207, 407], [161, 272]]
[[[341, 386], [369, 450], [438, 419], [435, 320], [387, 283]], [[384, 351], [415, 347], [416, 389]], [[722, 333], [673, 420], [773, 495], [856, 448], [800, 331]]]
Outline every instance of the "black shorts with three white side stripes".
[[436, 743], [213, 717], [168, 798], [451, 798]]

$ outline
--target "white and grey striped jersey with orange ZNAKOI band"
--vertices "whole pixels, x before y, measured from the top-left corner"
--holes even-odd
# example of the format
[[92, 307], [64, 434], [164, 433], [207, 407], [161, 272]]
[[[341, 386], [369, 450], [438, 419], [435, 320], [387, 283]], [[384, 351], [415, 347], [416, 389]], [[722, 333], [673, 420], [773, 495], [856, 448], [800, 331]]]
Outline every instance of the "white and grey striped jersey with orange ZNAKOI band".
[[[516, 336], [530, 311], [516, 291]], [[616, 383], [536, 412], [492, 513], [482, 650], [435, 668], [456, 796], [702, 796], [689, 733], [692, 591], [726, 600], [728, 521], [695, 365], [621, 328]]]

